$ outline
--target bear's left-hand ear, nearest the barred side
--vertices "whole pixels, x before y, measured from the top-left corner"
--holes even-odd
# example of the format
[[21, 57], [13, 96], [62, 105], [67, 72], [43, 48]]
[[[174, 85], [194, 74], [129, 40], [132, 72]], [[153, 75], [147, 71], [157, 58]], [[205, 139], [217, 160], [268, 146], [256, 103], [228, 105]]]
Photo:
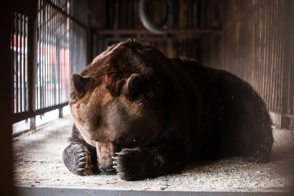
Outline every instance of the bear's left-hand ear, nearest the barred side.
[[82, 77], [78, 73], [71, 75], [71, 86], [73, 87], [73, 96], [76, 99], [81, 99], [85, 96], [88, 90], [88, 83], [91, 81], [90, 78]]

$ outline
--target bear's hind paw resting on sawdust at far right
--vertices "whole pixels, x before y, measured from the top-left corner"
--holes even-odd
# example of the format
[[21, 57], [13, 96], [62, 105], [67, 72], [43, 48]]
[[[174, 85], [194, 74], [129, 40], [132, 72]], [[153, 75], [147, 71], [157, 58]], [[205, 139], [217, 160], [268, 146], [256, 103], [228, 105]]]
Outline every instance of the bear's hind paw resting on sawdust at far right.
[[266, 145], [255, 146], [247, 156], [244, 156], [244, 161], [263, 163], [269, 161], [270, 153]]

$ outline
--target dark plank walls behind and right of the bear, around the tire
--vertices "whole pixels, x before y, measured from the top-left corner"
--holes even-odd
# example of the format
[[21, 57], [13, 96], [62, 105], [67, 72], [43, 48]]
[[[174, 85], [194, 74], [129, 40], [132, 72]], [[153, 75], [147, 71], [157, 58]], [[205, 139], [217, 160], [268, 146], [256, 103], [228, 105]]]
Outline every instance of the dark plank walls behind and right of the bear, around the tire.
[[[138, 3], [90, 0], [92, 57], [112, 43], [135, 38], [169, 57], [195, 58], [251, 83], [274, 123], [293, 129], [294, 0], [179, 0], [178, 20], [165, 35], [145, 30]], [[154, 0], [150, 13], [154, 23], [164, 20], [163, 1]]]

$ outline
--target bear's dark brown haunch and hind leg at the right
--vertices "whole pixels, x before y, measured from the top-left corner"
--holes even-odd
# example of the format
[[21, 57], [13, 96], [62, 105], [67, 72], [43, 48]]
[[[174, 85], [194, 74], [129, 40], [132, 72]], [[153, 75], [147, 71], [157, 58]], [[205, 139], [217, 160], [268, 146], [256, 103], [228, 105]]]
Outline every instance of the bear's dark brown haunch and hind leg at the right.
[[249, 83], [228, 72], [218, 73], [217, 86], [225, 105], [221, 117], [223, 137], [233, 141], [235, 146], [230, 149], [239, 150], [237, 155], [245, 161], [269, 161], [273, 132], [265, 103]]

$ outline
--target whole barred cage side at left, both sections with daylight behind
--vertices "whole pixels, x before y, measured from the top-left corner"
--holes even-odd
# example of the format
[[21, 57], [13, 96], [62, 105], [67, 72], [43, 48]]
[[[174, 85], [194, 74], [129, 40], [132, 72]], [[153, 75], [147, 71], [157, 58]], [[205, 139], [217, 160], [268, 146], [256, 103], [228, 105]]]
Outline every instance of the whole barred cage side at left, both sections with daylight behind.
[[68, 104], [71, 73], [80, 72], [87, 64], [88, 2], [35, 3], [35, 19], [14, 11], [11, 22], [13, 123], [61, 110]]

